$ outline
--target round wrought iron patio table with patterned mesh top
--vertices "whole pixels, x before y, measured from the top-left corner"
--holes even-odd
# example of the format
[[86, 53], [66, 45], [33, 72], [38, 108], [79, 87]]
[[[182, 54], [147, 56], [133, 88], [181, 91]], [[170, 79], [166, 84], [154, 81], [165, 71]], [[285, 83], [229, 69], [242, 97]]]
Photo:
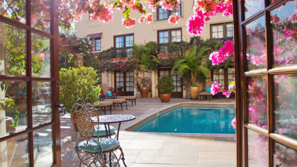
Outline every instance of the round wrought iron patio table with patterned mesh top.
[[[121, 123], [123, 122], [128, 122], [128, 121], [132, 121], [135, 120], [135, 116], [131, 116], [131, 115], [104, 115], [104, 116], [99, 116], [99, 124], [104, 124], [105, 126], [105, 131], [106, 131], [106, 136], [111, 138], [111, 133], [110, 133], [110, 127], [109, 124], [112, 123], [119, 123], [118, 129], [117, 129], [117, 133], [116, 133], [116, 139], [119, 139], [119, 131], [120, 131], [120, 127], [121, 127]], [[92, 120], [95, 123], [98, 123], [98, 120], [96, 117], [92, 117]], [[107, 131], [108, 129], [108, 131]], [[109, 160], [111, 159], [110, 157], [111, 155], [109, 154]], [[123, 164], [125, 167], [127, 167], [126, 163], [125, 163], [125, 158], [124, 158], [124, 153], [123, 153]], [[110, 163], [111, 166], [111, 163]]]

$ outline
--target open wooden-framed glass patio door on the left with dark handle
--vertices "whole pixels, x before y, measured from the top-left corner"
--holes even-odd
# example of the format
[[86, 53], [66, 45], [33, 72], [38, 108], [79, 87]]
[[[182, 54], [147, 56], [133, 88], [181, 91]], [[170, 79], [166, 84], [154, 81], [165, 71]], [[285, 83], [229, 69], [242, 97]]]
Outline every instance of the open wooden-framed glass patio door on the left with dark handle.
[[60, 166], [57, 0], [0, 1], [0, 167]]

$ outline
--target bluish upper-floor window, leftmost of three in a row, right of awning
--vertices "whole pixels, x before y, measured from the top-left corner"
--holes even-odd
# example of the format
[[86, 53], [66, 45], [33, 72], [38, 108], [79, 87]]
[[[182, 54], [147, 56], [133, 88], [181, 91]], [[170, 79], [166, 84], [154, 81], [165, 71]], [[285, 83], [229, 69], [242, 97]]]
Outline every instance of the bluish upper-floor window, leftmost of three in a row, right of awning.
[[118, 55], [124, 54], [127, 57], [131, 57], [131, 51], [134, 46], [134, 35], [130, 34], [114, 37], [114, 46]]

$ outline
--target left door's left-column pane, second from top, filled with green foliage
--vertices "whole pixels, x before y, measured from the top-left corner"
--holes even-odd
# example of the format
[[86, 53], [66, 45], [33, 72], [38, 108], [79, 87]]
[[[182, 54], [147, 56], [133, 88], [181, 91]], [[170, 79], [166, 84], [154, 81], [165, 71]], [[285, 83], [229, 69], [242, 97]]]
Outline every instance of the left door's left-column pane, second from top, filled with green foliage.
[[26, 30], [0, 22], [0, 75], [26, 76]]

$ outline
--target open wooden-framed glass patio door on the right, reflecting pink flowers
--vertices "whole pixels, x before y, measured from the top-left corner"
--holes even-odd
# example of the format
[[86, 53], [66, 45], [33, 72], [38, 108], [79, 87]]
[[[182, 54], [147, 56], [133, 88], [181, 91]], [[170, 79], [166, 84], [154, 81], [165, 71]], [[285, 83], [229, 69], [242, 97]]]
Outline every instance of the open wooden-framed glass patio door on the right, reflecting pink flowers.
[[296, 166], [297, 0], [234, 2], [237, 166]]

